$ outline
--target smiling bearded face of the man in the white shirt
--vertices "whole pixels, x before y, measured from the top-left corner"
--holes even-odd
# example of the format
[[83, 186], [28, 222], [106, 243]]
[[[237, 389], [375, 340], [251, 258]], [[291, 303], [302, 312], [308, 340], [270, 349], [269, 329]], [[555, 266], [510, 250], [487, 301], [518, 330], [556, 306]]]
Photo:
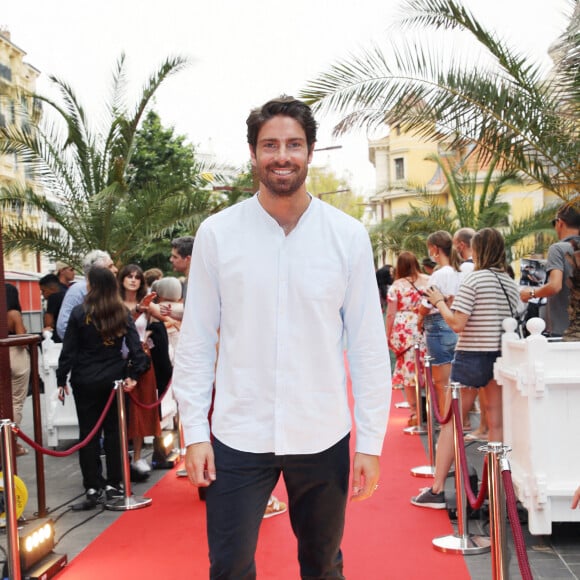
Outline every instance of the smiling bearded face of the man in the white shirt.
[[260, 183], [269, 193], [281, 197], [291, 196], [303, 187], [312, 160], [304, 129], [284, 115], [264, 123], [256, 149], [250, 147], [250, 155]]

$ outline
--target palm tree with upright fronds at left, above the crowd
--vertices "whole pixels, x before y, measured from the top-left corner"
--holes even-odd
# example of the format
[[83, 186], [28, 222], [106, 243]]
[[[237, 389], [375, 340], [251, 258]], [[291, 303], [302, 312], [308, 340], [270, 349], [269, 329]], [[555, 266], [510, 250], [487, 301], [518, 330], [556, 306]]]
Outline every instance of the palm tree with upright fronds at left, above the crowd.
[[[30, 130], [27, 122], [0, 129], [0, 154], [16, 154], [39, 185], [13, 183], [0, 192], [3, 209], [26, 207], [44, 220], [39, 226], [3, 223], [7, 251], [33, 250], [79, 266], [95, 248], [118, 262], [145, 252], [176, 224], [192, 225], [205, 215], [209, 195], [201, 170], [189, 183], [166, 179], [135, 183], [131, 159], [140, 122], [160, 85], [186, 65], [181, 57], [166, 59], [145, 83], [136, 105], [125, 94], [125, 57], [113, 73], [105, 130], [95, 131], [73, 89], [51, 77], [62, 104], [40, 95], [53, 113], [47, 127]], [[24, 109], [23, 109], [24, 112]]]

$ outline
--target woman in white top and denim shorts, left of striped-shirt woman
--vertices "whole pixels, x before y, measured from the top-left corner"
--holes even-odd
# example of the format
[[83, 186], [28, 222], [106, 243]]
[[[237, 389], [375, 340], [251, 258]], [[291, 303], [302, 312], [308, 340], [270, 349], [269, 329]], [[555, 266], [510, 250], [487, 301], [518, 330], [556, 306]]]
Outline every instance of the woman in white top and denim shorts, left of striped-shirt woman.
[[[459, 289], [461, 273], [459, 271], [459, 256], [453, 249], [453, 238], [449, 232], [440, 230], [427, 238], [429, 257], [437, 263], [437, 269], [429, 278], [429, 286], [437, 286], [451, 303]], [[423, 316], [423, 329], [425, 330], [425, 342], [427, 352], [431, 357], [431, 371], [433, 374], [433, 386], [437, 393], [437, 409], [444, 414], [445, 387], [449, 383], [451, 361], [457, 343], [457, 335], [441, 314], [424, 299], [419, 309]]]

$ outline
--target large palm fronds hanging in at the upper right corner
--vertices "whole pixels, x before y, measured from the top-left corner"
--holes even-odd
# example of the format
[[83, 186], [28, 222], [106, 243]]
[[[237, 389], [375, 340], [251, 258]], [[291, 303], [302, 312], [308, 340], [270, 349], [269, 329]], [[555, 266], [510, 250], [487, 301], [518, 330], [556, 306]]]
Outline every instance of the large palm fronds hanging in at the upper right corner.
[[477, 146], [482, 164], [497, 156], [564, 200], [578, 193], [580, 164], [580, 7], [561, 37], [558, 66], [546, 79], [541, 67], [487, 31], [455, 0], [404, 0], [401, 24], [467, 32], [489, 57], [478, 65], [455, 58], [446, 65], [420, 42], [374, 46], [332, 65], [301, 96], [316, 110], [342, 115], [335, 128], [376, 127], [397, 119], [407, 131], [461, 149]]

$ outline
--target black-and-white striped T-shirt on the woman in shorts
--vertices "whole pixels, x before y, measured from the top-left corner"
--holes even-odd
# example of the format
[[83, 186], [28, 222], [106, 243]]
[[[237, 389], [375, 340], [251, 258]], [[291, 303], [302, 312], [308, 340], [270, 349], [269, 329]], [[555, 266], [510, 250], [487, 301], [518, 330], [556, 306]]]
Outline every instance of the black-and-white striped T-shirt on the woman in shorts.
[[[501, 280], [501, 284], [500, 284]], [[510, 298], [510, 306], [505, 292]], [[452, 309], [469, 315], [459, 335], [456, 350], [494, 352], [501, 350], [502, 322], [515, 314], [520, 293], [517, 284], [498, 270], [476, 270], [463, 280]]]

